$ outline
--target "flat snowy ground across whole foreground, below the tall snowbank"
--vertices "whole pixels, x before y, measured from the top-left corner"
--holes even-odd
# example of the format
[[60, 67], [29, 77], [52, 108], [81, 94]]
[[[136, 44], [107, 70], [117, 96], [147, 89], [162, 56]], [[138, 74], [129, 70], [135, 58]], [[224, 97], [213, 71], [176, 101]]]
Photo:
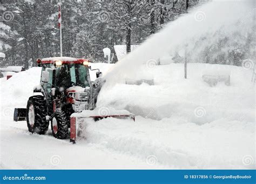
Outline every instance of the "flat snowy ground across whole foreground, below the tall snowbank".
[[[199, 126], [136, 117], [88, 122], [86, 139], [73, 145], [46, 135], [31, 134], [25, 121], [3, 120], [2, 168], [17, 169], [245, 169], [244, 156], [254, 153], [253, 124], [239, 131], [239, 122]], [[233, 128], [232, 128], [233, 127]], [[226, 130], [229, 129], [227, 132]], [[248, 146], [251, 145], [251, 146]], [[250, 156], [249, 156], [250, 157]]]

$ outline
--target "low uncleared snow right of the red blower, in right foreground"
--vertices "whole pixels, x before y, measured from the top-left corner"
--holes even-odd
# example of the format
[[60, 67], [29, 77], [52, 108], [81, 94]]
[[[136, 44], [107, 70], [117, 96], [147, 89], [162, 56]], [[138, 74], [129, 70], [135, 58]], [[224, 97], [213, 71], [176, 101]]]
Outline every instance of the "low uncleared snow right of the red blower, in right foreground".
[[87, 121], [86, 141], [174, 169], [253, 169], [254, 123], [220, 119], [199, 126], [185, 117]]

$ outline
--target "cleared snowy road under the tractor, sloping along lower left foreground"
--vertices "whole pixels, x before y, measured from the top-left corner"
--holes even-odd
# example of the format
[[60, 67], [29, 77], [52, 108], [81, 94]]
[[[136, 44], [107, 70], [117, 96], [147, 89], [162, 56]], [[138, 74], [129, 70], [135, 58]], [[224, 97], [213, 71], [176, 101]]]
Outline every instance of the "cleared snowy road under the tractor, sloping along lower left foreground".
[[98, 144], [69, 140], [28, 132], [25, 121], [2, 120], [2, 169], [154, 169], [162, 166], [148, 165], [146, 159], [105, 149]]

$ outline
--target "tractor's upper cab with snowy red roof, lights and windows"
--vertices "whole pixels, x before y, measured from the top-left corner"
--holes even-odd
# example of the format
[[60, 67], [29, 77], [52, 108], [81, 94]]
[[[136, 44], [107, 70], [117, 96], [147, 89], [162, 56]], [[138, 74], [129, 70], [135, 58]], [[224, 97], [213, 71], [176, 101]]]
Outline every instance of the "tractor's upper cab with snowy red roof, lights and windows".
[[67, 90], [72, 86], [90, 87], [89, 60], [69, 57], [37, 59], [42, 66], [41, 85]]

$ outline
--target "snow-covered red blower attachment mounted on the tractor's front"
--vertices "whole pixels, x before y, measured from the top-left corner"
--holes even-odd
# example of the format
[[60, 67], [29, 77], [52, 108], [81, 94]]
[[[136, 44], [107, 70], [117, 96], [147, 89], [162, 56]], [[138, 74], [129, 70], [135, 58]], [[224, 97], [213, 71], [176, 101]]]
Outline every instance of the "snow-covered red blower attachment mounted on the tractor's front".
[[95, 110], [86, 110], [82, 113], [73, 113], [70, 118], [70, 142], [76, 143], [80, 133], [84, 131], [86, 119], [93, 119], [95, 121], [103, 118], [118, 118], [118, 119], [132, 119], [135, 121], [134, 114], [126, 110], [114, 110], [113, 108], [100, 107]]

